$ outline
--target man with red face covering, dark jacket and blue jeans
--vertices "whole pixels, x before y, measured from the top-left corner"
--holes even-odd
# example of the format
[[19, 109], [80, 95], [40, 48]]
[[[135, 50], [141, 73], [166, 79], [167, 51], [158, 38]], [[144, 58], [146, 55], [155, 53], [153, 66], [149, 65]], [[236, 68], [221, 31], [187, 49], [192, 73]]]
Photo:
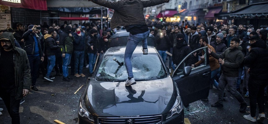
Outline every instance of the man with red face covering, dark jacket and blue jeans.
[[74, 76], [75, 77], [80, 77], [80, 76], [86, 77], [86, 75], [83, 74], [85, 40], [86, 40], [85, 34], [81, 32], [79, 28], [77, 28], [74, 34]]

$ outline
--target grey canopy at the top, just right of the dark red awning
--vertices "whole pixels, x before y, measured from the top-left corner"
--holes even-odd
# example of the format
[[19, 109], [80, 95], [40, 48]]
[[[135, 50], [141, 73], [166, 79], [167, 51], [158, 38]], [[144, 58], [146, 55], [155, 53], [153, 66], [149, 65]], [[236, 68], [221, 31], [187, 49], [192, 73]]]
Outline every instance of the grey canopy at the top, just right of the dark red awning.
[[47, 0], [47, 7], [101, 7], [88, 0]]

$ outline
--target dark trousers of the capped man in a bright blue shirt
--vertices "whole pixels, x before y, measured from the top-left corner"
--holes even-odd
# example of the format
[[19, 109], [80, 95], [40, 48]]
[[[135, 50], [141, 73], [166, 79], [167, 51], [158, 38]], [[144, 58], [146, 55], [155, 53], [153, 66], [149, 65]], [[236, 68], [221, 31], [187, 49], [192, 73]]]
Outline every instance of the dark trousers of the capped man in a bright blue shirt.
[[32, 77], [32, 86], [35, 86], [37, 80], [37, 73], [39, 71], [39, 65], [41, 62], [41, 57], [38, 56], [28, 56], [30, 68], [31, 68], [31, 77]]

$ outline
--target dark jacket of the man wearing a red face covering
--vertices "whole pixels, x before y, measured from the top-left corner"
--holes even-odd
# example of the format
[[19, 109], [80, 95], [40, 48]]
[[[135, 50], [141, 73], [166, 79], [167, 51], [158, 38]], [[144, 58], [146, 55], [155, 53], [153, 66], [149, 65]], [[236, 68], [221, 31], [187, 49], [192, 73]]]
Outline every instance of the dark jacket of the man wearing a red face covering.
[[85, 34], [81, 32], [81, 36], [78, 36], [77, 33], [74, 33], [73, 36], [74, 36], [74, 51], [84, 51], [86, 41]]

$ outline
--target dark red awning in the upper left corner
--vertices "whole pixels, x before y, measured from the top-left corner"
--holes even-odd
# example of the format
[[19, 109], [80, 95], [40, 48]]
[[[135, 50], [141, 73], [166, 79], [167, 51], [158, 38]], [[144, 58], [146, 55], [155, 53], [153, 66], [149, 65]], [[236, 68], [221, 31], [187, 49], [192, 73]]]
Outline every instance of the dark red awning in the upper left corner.
[[0, 4], [10, 7], [22, 7], [34, 10], [47, 10], [47, 0], [0, 0]]

